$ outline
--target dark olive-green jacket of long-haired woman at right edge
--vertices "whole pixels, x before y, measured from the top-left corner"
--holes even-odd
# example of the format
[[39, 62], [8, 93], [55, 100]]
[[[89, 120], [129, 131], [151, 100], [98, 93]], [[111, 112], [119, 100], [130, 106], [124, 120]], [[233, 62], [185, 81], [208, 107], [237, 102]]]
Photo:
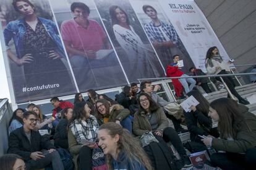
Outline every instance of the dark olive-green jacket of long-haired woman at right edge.
[[[239, 107], [241, 109], [241, 107]], [[256, 116], [247, 110], [242, 111], [245, 122], [242, 123], [234, 140], [213, 138], [211, 146], [217, 150], [242, 153], [249, 148], [256, 147]]]

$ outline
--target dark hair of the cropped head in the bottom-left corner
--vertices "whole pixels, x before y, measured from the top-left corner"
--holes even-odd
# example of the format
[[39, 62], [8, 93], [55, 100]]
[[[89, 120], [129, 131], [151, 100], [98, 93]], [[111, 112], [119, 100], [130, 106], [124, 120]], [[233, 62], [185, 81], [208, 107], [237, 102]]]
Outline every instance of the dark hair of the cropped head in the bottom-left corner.
[[[17, 159], [22, 159], [21, 156], [16, 154], [6, 154], [0, 157], [0, 169], [12, 170]], [[22, 159], [23, 160], [23, 159]]]

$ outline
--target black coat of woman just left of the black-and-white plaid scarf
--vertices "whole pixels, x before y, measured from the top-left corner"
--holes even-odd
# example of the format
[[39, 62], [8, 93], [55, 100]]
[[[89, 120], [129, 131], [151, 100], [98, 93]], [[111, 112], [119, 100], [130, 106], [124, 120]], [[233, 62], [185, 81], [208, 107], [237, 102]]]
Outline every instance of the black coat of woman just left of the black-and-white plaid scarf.
[[61, 139], [67, 139], [67, 119], [61, 119], [56, 125], [55, 128], [55, 134], [54, 139], [61, 138]]

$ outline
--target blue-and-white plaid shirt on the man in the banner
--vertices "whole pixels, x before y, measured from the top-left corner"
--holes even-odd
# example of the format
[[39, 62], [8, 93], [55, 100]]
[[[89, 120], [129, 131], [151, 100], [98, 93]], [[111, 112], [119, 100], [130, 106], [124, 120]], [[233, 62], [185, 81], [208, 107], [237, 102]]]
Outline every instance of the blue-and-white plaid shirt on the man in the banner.
[[182, 42], [179, 39], [176, 30], [174, 30], [173, 25], [164, 23], [162, 21], [160, 21], [160, 23], [161, 25], [157, 27], [154, 25], [153, 21], [144, 25], [148, 38], [150, 38], [151, 41], [158, 41], [159, 43], [167, 41], [166, 38], [164, 38], [163, 32], [159, 28], [161, 27], [164, 33], [168, 36], [168, 38], [174, 43], [174, 45], [180, 47], [182, 45]]

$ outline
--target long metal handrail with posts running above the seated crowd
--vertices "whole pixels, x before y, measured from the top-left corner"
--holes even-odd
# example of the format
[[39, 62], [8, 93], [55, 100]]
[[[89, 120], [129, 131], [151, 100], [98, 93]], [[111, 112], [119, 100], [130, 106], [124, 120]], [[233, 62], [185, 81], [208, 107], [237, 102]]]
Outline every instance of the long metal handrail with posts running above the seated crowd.
[[[231, 91], [228, 88], [228, 85], [226, 85], [226, 83], [224, 82], [222, 77], [236, 76], [236, 75], [242, 75], [242, 76], [244, 76], [244, 75], [256, 75], [256, 72], [239, 73], [239, 74], [214, 74], [214, 75], [196, 75], [196, 76], [193, 75], [193, 76], [186, 76], [186, 77], [160, 77], [160, 78], [148, 78], [148, 79], [138, 79], [138, 80], [140, 82], [140, 80], [168, 80], [168, 79], [188, 79], [188, 78], [220, 77], [221, 82], [223, 83], [224, 87], [228, 91], [229, 96], [231, 96], [231, 98], [233, 100], [235, 100], [233, 94], [231, 93]], [[173, 95], [173, 91], [171, 91], [171, 95], [173, 96], [173, 100], [176, 101], [176, 98], [174, 98], [174, 95]]]

